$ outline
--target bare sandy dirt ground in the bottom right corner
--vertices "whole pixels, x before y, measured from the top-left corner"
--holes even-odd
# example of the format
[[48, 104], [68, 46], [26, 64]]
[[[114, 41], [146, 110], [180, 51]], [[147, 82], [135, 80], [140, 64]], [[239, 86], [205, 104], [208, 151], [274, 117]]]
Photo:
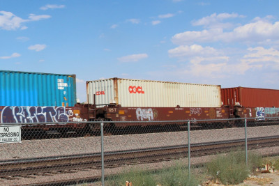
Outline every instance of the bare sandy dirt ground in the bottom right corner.
[[[279, 172], [273, 173], [259, 173], [257, 176], [251, 176], [244, 180], [239, 186], [279, 186]], [[207, 183], [206, 186], [223, 186], [218, 183]], [[234, 185], [236, 186], [236, 185]]]

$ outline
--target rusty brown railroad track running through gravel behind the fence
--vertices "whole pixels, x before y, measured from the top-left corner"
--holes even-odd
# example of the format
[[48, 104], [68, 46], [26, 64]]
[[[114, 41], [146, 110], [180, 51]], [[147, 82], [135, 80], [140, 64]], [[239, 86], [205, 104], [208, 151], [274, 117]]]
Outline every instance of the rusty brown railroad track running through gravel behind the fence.
[[[248, 139], [249, 149], [271, 146], [279, 146], [279, 136]], [[216, 141], [204, 144], [191, 144], [190, 153], [191, 157], [197, 157], [216, 153], [226, 153], [243, 148], [245, 148], [244, 139]], [[129, 164], [176, 160], [187, 156], [188, 145], [162, 146], [157, 148], [107, 152], [105, 153], [104, 161], [105, 169], [110, 169]], [[47, 173], [71, 173], [77, 169], [101, 169], [100, 153], [0, 161], [0, 177], [2, 179], [13, 179], [13, 177], [29, 178], [33, 175], [47, 175]], [[90, 179], [98, 179], [99, 177], [100, 176], [92, 176]], [[45, 184], [50, 185], [50, 183]]]

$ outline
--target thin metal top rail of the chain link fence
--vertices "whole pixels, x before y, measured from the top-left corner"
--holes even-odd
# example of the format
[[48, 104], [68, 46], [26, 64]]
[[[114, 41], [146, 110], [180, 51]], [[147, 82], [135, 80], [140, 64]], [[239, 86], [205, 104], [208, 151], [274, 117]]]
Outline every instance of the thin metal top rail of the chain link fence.
[[207, 120], [180, 120], [180, 121], [74, 121], [74, 122], [40, 122], [40, 123], [0, 123], [1, 125], [66, 125], [66, 124], [86, 124], [86, 123], [193, 123], [193, 122], [224, 122], [224, 121], [264, 121], [279, 120], [279, 117], [266, 118], [224, 118]]

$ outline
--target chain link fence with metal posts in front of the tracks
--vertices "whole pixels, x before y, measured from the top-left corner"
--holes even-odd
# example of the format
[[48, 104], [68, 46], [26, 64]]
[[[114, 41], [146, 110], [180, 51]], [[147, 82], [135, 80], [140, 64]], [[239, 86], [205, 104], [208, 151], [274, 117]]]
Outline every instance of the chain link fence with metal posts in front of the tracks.
[[179, 165], [191, 173], [237, 150], [246, 152], [248, 164], [250, 152], [278, 155], [278, 129], [279, 118], [6, 123], [0, 185], [110, 185], [114, 176], [135, 170]]

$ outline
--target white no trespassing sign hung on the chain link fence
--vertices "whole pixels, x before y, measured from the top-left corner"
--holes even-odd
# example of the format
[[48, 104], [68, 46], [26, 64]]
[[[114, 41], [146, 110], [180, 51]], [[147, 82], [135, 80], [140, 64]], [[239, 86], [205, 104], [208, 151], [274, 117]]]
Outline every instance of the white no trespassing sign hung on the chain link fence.
[[0, 143], [21, 143], [21, 125], [1, 125]]

